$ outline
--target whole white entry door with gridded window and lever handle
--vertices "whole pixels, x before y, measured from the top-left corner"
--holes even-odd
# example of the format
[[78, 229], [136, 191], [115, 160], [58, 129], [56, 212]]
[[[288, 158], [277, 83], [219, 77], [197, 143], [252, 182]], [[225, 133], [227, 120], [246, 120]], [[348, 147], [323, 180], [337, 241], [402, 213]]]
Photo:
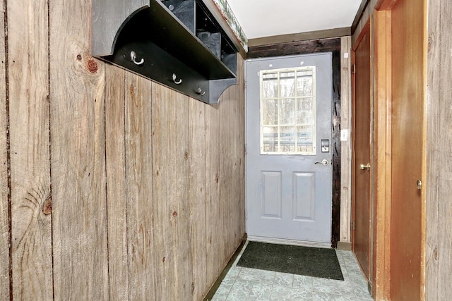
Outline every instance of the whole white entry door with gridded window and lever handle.
[[246, 61], [246, 232], [331, 242], [331, 54]]

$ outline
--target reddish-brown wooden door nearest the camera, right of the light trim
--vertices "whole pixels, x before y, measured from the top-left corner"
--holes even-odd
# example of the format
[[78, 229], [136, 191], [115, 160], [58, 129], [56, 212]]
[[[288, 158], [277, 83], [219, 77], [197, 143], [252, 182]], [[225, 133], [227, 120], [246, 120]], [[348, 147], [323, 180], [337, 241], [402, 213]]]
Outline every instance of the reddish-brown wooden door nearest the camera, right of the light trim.
[[391, 300], [422, 300], [424, 0], [392, 9]]

